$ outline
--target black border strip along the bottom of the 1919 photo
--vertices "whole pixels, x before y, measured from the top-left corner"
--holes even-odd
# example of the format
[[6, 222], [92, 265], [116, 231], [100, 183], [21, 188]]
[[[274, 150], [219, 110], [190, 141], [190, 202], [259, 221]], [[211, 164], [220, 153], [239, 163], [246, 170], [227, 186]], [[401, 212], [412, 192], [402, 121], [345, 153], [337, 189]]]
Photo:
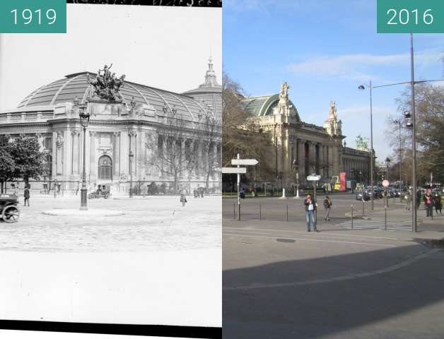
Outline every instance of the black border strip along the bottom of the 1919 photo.
[[67, 323], [62, 321], [0, 320], [4, 330], [149, 335], [154, 337], [221, 339], [222, 328], [199, 326], [132, 325], [126, 323]]

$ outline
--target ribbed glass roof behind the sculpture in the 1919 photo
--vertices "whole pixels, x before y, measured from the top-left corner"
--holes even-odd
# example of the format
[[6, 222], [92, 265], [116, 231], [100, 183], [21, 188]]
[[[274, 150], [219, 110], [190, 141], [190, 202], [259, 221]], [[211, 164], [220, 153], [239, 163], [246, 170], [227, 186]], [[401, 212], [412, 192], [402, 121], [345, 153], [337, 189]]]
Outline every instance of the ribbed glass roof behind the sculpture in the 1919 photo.
[[[85, 102], [93, 96], [93, 88], [88, 83], [87, 74], [94, 78], [96, 73], [81, 72], [65, 76], [65, 78], [44, 85], [33, 93], [30, 93], [21, 101], [17, 108], [33, 106], [55, 106], [64, 102], [74, 102], [74, 98]], [[173, 93], [167, 90], [124, 81], [119, 91], [123, 102], [129, 105], [134, 97], [138, 105], [151, 105], [156, 112], [163, 112], [163, 107], [177, 109], [177, 114], [182, 119], [196, 121], [199, 114], [205, 114], [209, 108], [201, 102], [187, 95]]]

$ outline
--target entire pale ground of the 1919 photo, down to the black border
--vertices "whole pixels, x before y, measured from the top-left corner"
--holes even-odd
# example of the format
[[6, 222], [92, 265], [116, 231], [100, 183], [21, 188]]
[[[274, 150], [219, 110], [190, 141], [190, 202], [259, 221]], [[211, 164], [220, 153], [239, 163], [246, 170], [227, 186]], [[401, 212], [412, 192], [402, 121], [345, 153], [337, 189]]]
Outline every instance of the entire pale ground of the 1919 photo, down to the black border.
[[0, 319], [221, 326], [221, 197], [95, 199], [125, 215], [43, 215], [31, 198], [0, 223]]

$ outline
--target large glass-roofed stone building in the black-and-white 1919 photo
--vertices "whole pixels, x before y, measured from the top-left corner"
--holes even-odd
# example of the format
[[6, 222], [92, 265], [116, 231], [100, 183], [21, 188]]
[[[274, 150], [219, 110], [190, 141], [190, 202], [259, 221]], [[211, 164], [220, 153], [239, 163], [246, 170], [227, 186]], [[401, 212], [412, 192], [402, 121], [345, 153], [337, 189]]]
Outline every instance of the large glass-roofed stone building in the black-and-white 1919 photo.
[[[192, 191], [208, 186], [210, 192], [220, 191], [221, 174], [216, 170], [220, 163], [214, 160], [221, 157], [221, 85], [216, 81], [211, 58], [204, 83], [181, 94], [132, 83], [124, 76], [116, 78], [107, 66], [103, 76], [98, 75], [100, 71], [61, 76], [42, 84], [16, 108], [0, 112], [0, 134], [11, 141], [37, 138], [40, 150], [46, 153], [49, 174], [30, 181], [33, 191], [75, 194], [81, 185], [83, 149], [88, 190], [107, 184], [113, 194], [127, 194], [131, 180], [136, 193], [142, 194], [153, 182], [172, 191], [174, 171], [167, 167], [173, 164], [160, 156], [157, 162], [151, 160], [153, 155], [175, 152], [179, 154], [177, 161], [187, 154], [195, 156], [194, 162], [176, 171], [180, 189]], [[104, 85], [104, 78], [112, 86]], [[104, 99], [104, 93], [98, 90], [100, 84], [114, 95], [113, 100]], [[90, 114], [85, 147], [81, 109]], [[171, 115], [179, 121], [174, 126], [168, 126], [166, 116]], [[211, 139], [205, 129], [209, 118], [218, 121]], [[178, 126], [180, 140], [172, 145], [170, 139]], [[9, 183], [8, 189], [17, 185], [23, 189], [23, 182]]]

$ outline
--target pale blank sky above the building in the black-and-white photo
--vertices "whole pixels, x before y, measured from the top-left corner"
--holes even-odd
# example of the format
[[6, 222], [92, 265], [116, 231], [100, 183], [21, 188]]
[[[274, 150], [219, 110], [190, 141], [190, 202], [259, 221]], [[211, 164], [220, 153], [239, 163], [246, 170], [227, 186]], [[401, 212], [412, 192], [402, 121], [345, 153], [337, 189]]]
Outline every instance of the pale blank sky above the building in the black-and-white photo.
[[64, 76], [105, 64], [127, 81], [182, 93], [222, 76], [221, 8], [67, 5], [66, 34], [0, 35], [0, 110]]

